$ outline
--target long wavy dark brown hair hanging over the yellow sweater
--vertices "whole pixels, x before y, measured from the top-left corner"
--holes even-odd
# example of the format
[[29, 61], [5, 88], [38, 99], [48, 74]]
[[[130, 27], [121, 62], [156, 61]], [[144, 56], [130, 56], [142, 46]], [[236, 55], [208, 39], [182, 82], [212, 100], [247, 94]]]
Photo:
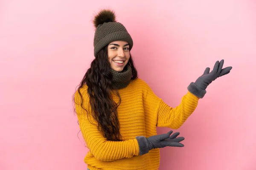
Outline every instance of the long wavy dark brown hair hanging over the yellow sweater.
[[[127, 64], [131, 66], [131, 79], [136, 79], [137, 70], [134, 67], [131, 55]], [[87, 93], [90, 97], [92, 116], [93, 119], [98, 122], [98, 130], [110, 141], [122, 141], [117, 116], [117, 107], [121, 103], [121, 98], [118, 91], [115, 90], [115, 94], [119, 97], [119, 102], [116, 103], [113, 101], [110, 93], [114, 89], [112, 89], [112, 74], [110, 72], [110, 63], [108, 61], [108, 45], [105, 46], [105, 48], [102, 48], [91, 62], [90, 68], [81, 80], [78, 91], [84, 84], [88, 86]], [[83, 102], [80, 91], [79, 95]]]

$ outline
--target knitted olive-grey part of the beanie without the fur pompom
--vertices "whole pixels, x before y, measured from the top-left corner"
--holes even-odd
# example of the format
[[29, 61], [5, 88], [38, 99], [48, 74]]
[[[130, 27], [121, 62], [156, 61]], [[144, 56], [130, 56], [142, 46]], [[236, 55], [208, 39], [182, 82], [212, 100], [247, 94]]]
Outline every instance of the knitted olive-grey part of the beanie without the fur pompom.
[[133, 46], [131, 35], [121, 23], [108, 22], [100, 24], [94, 33], [94, 56], [96, 57], [102, 48], [113, 41], [128, 42], [130, 50]]

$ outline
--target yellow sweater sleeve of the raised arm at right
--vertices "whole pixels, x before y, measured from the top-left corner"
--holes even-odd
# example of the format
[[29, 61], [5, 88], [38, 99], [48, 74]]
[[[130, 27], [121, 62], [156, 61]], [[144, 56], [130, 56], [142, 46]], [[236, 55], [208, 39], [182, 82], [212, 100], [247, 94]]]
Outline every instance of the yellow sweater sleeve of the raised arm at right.
[[172, 108], [154, 94], [148, 85], [146, 87], [144, 102], [148, 113], [153, 114], [154, 118], [157, 119], [157, 127], [178, 129], [195, 111], [198, 105], [199, 98], [188, 91], [182, 97], [180, 104]]

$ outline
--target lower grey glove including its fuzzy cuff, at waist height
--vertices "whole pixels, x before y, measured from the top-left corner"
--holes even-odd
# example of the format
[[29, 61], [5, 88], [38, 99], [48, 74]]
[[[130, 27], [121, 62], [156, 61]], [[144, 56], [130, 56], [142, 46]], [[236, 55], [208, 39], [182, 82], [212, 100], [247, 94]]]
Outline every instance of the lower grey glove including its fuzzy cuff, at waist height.
[[170, 136], [171, 134], [172, 130], [168, 133], [150, 136], [148, 138], [145, 136], [137, 136], [136, 139], [139, 143], [140, 155], [146, 154], [149, 150], [155, 148], [161, 148], [166, 146], [183, 147], [184, 145], [179, 142], [183, 141], [185, 138], [177, 137], [180, 134], [179, 132], [176, 132], [172, 136]]

